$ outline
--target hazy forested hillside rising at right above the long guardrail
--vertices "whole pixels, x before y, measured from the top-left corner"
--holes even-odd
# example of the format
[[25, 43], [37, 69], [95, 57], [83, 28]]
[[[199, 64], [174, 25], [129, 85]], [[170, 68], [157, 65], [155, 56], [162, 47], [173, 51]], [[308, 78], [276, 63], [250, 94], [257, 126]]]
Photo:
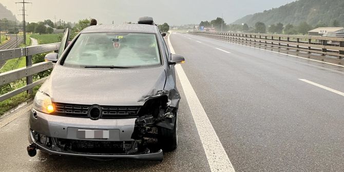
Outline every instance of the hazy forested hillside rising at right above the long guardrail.
[[257, 22], [263, 22], [266, 25], [281, 22], [284, 25], [298, 25], [301, 22], [307, 22], [313, 26], [318, 24], [331, 26], [336, 20], [342, 26], [344, 25], [343, 9], [343, 0], [299, 0], [279, 8], [246, 15], [233, 24], [246, 23], [254, 26]]

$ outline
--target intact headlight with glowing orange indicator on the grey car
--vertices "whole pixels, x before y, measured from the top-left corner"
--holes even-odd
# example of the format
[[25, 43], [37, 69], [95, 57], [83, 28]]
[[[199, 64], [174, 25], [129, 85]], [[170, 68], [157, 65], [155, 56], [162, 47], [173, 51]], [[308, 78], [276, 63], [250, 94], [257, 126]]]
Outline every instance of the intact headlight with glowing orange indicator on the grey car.
[[43, 113], [51, 113], [54, 111], [54, 106], [49, 95], [41, 91], [37, 91], [34, 97], [33, 108]]

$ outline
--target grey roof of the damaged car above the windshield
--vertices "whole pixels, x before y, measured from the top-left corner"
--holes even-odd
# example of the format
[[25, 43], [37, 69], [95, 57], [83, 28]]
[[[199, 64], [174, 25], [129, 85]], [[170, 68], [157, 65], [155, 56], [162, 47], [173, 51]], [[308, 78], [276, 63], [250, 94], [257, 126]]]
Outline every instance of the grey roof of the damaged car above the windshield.
[[159, 29], [155, 25], [144, 24], [121, 24], [121, 25], [96, 25], [89, 26], [81, 31], [81, 33], [91, 32], [140, 32], [140, 33], [159, 33]]

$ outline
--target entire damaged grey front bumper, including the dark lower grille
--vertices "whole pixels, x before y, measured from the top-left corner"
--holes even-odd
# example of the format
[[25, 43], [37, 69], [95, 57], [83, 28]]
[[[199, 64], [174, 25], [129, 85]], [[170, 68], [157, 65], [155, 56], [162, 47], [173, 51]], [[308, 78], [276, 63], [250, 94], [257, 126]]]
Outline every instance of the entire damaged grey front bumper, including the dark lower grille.
[[[87, 118], [53, 116], [32, 109], [29, 122], [30, 151], [40, 149], [53, 155], [162, 161], [163, 151], [160, 148], [147, 148], [142, 146], [142, 141], [131, 138], [136, 120], [90, 121]], [[80, 139], [75, 135], [78, 129], [109, 130], [110, 137], [108, 139]], [[93, 150], [93, 147], [97, 151], [88, 151]]]

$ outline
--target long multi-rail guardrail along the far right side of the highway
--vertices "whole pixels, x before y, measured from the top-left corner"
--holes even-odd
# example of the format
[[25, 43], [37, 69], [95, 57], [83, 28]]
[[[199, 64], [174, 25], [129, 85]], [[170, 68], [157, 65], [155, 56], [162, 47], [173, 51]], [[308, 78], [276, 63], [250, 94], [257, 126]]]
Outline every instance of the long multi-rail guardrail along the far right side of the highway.
[[195, 35], [231, 40], [246, 44], [271, 46], [321, 55], [344, 58], [344, 37], [302, 36], [284, 34], [261, 33], [233, 33], [233, 32], [188, 32]]

